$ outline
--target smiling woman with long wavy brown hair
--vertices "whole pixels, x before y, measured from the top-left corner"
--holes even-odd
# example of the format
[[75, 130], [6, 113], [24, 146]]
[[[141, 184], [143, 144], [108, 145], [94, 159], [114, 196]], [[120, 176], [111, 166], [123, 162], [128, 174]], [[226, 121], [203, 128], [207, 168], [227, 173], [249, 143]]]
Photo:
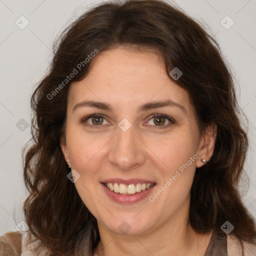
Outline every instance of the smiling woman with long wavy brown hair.
[[84, 13], [31, 106], [22, 256], [255, 255], [232, 77], [182, 11], [128, 0]]

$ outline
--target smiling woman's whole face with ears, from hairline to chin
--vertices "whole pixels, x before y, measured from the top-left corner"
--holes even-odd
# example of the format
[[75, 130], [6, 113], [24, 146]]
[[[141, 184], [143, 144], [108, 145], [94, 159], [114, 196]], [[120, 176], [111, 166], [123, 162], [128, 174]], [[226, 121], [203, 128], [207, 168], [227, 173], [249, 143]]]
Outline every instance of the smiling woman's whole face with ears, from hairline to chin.
[[155, 53], [98, 53], [67, 101], [61, 149], [98, 225], [142, 234], [187, 217], [195, 168], [213, 148], [199, 135], [187, 92]]

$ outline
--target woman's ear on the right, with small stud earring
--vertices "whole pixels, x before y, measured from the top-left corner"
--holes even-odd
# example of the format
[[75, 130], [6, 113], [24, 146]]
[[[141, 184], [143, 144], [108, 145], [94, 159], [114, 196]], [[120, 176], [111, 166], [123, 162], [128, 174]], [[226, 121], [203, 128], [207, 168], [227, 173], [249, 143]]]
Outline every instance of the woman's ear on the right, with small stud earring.
[[202, 162], [201, 159], [204, 158], [206, 162], [210, 159], [213, 154], [215, 140], [217, 134], [217, 125], [215, 123], [207, 126], [203, 134], [201, 135], [199, 148], [201, 152], [200, 157], [196, 160], [196, 167], [201, 167], [205, 162]]

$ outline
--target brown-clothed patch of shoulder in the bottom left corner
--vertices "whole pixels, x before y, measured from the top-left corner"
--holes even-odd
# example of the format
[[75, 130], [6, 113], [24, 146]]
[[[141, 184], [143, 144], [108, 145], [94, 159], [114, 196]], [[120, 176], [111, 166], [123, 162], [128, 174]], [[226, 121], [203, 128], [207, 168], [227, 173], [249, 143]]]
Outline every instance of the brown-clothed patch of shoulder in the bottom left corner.
[[19, 256], [21, 254], [22, 234], [18, 231], [7, 232], [0, 236], [0, 255]]

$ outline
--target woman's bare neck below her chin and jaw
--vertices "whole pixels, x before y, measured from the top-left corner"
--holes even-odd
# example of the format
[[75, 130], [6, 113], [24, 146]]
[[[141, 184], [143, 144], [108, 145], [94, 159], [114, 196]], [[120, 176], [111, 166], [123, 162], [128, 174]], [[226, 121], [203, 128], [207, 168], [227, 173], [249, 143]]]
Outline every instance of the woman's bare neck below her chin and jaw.
[[100, 241], [94, 250], [94, 255], [98, 256], [204, 255], [211, 236], [211, 233], [199, 233], [191, 227], [188, 209], [139, 235], [115, 234], [99, 222], [98, 228]]

